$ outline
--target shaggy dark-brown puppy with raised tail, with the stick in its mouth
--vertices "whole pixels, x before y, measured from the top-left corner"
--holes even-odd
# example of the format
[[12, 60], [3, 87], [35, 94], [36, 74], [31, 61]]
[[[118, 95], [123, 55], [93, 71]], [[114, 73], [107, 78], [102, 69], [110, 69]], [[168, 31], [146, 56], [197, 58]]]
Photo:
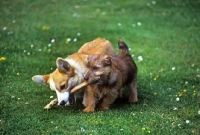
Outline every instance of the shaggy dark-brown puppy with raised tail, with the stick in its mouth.
[[[87, 86], [84, 112], [94, 112], [95, 107], [101, 110], [109, 109], [118, 96], [121, 96], [123, 86], [130, 90], [129, 102], [135, 103], [137, 98], [137, 66], [133, 61], [128, 46], [123, 41], [118, 42], [119, 54], [116, 56], [90, 55], [84, 74], [85, 82], [71, 90], [76, 92]], [[90, 85], [89, 85], [90, 84]]]

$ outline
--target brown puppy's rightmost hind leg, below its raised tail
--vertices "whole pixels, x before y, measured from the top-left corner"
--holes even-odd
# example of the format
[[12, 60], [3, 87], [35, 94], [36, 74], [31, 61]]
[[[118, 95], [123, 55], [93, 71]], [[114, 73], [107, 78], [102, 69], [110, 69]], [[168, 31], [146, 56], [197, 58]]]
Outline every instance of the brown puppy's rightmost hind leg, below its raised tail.
[[129, 90], [130, 90], [129, 102], [130, 103], [136, 103], [138, 101], [136, 80], [133, 80], [132, 83], [130, 83], [128, 85], [128, 87], [129, 87]]

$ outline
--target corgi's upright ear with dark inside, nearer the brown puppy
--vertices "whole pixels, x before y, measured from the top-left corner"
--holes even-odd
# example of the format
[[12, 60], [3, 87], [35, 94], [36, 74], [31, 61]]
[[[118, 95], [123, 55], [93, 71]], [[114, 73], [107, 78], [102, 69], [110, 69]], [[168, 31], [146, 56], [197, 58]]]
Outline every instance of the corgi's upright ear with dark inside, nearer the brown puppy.
[[70, 71], [70, 64], [63, 58], [57, 58], [56, 60], [57, 68], [60, 72], [68, 73]]

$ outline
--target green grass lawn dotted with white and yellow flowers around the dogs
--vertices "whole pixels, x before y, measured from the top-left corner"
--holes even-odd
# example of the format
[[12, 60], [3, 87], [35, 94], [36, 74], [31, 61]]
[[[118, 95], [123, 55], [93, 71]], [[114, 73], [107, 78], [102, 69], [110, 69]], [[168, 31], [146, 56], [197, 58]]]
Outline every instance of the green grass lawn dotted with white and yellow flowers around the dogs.
[[[198, 0], [1, 0], [0, 134], [200, 134], [199, 7]], [[84, 114], [81, 98], [43, 110], [56, 95], [31, 77], [51, 73], [57, 57], [96, 37], [131, 48], [139, 102], [128, 104], [125, 92], [108, 111]]]

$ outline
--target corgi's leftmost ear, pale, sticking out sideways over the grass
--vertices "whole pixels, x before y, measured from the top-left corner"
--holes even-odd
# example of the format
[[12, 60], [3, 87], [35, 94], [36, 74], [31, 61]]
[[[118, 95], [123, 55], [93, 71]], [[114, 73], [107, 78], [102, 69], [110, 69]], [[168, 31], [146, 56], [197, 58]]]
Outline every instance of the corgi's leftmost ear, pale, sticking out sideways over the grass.
[[50, 75], [35, 75], [32, 77], [32, 80], [36, 83], [48, 85]]

